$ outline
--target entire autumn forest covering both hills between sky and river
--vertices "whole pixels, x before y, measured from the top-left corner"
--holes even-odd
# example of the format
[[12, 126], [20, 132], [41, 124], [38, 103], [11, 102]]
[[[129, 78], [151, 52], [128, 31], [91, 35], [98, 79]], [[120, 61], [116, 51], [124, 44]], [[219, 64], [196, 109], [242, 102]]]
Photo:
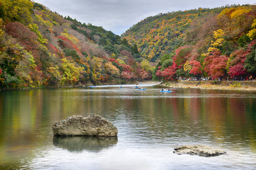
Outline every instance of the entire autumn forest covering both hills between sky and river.
[[160, 13], [120, 37], [30, 0], [0, 0], [0, 89], [254, 79], [255, 38], [255, 5]]

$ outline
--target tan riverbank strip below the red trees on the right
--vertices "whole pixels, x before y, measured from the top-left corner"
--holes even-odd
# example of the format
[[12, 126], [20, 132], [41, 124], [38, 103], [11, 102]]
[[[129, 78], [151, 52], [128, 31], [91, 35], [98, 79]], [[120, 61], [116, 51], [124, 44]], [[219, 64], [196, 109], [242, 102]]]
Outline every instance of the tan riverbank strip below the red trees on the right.
[[256, 91], [256, 81], [176, 81], [164, 82], [161, 86], [169, 88], [218, 89], [237, 91]]

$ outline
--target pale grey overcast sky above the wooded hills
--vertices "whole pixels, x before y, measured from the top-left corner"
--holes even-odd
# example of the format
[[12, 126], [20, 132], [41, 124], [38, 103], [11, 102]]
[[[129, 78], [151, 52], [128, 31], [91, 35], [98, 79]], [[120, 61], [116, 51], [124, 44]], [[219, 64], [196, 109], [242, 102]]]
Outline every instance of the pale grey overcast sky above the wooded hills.
[[62, 16], [92, 23], [121, 35], [148, 16], [227, 4], [255, 4], [254, 0], [34, 0]]

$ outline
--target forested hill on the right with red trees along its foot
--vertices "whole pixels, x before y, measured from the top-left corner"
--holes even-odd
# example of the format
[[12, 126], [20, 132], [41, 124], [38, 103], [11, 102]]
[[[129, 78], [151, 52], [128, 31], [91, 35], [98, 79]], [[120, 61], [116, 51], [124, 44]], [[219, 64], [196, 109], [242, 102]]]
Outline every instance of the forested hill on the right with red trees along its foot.
[[255, 5], [159, 14], [132, 26], [122, 38], [158, 63], [154, 79], [256, 77]]

